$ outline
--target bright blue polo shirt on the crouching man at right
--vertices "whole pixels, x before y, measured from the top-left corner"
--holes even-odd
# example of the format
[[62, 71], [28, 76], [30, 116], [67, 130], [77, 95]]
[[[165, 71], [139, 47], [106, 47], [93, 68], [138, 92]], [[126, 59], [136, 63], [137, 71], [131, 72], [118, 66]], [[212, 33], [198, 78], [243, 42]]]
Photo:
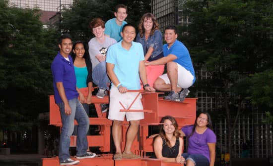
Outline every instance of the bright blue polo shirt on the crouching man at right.
[[194, 76], [193, 83], [195, 82], [196, 78], [192, 59], [187, 47], [182, 42], [176, 40], [170, 48], [168, 48], [168, 44], [164, 44], [163, 52], [164, 56], [168, 56], [169, 54], [175, 55], [177, 59], [173, 61], [183, 66], [186, 70], [190, 71]]

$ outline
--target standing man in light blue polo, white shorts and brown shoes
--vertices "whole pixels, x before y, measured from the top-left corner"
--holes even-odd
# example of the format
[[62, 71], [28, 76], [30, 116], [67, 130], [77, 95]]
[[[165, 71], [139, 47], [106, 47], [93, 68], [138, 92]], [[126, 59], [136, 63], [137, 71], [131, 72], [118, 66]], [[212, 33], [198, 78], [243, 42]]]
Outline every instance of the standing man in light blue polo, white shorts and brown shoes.
[[[136, 92], [127, 92], [127, 90], [139, 90], [140, 79], [144, 84], [145, 90], [154, 91], [147, 84], [146, 71], [144, 66], [144, 54], [142, 45], [133, 42], [136, 37], [136, 29], [131, 24], [126, 24], [121, 32], [123, 40], [109, 47], [106, 57], [107, 73], [112, 81], [110, 93], [110, 107], [108, 119], [113, 120], [113, 139], [116, 147], [114, 160], [140, 158], [131, 151], [132, 143], [136, 138], [139, 121], [144, 118], [143, 112], [120, 112], [122, 104], [128, 108], [136, 98]], [[139, 95], [130, 108], [131, 110], [143, 110]], [[121, 151], [121, 126], [124, 116], [130, 121], [126, 135], [126, 146], [122, 154]]]

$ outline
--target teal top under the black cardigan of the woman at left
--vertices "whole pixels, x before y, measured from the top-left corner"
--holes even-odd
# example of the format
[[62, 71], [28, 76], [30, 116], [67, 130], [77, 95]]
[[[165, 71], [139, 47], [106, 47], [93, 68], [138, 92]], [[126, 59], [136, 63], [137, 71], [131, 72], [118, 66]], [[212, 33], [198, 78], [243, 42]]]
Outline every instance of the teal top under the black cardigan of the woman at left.
[[76, 75], [76, 85], [78, 88], [87, 87], [86, 80], [88, 76], [87, 67], [76, 67], [74, 66], [75, 75]]

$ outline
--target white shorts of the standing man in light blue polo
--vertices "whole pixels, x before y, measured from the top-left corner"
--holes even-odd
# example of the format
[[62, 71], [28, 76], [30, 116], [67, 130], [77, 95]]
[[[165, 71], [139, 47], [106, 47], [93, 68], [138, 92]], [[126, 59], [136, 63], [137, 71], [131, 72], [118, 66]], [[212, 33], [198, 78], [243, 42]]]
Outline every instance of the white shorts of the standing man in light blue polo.
[[[120, 110], [124, 109], [121, 106], [120, 102], [126, 109], [128, 109], [128, 107], [136, 98], [137, 94], [138, 92], [120, 93], [116, 86], [112, 86], [110, 90], [108, 119], [124, 121], [125, 115], [127, 121], [136, 121], [144, 119], [143, 112], [120, 112]], [[136, 101], [134, 102], [130, 110], [143, 110], [143, 106], [141, 103], [141, 94], [137, 97]]]

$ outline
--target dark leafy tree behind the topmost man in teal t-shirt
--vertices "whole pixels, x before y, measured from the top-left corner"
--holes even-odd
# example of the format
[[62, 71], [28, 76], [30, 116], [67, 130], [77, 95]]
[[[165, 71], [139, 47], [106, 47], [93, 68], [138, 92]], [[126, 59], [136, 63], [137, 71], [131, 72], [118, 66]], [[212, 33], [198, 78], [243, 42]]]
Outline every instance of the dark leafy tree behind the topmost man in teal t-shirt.
[[146, 0], [75, 0], [62, 13], [61, 29], [69, 32], [73, 40], [87, 43], [93, 36], [89, 22], [93, 18], [101, 18], [105, 22], [113, 17], [115, 6], [123, 3], [128, 7], [126, 21], [137, 26], [141, 16], [150, 12], [149, 1]]

